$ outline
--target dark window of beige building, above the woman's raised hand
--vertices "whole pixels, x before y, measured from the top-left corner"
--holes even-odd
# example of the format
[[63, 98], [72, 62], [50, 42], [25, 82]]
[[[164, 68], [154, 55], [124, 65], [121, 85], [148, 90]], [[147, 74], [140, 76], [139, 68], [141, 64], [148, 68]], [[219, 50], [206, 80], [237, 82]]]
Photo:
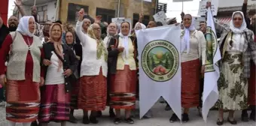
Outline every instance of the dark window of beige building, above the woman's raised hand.
[[78, 12], [81, 8], [84, 8], [84, 12], [88, 13], [88, 6], [69, 3], [68, 22], [75, 23], [78, 20]]

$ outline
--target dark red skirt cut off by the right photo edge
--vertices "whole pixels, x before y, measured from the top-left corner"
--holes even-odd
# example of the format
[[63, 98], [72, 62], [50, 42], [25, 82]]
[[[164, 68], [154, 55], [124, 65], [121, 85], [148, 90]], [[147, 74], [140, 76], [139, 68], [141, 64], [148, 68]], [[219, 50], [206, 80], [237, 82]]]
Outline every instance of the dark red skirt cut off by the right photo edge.
[[254, 65], [254, 62], [251, 62], [251, 77], [248, 83], [248, 104], [256, 106], [256, 65]]

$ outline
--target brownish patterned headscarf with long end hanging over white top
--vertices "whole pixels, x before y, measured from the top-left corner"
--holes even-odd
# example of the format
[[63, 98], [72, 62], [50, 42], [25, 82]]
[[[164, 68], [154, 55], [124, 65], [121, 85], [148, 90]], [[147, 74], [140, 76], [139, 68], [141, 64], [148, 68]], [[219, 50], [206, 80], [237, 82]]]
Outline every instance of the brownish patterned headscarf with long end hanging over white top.
[[[54, 26], [59, 26], [60, 29], [61, 29], [61, 34], [60, 34], [60, 37], [59, 37], [59, 40], [54, 40], [53, 39], [53, 34], [51, 34], [52, 30], [53, 30], [53, 27]], [[57, 55], [59, 55], [61, 58], [63, 58], [63, 54], [62, 54], [62, 33], [63, 33], [63, 28], [62, 28], [62, 25], [59, 24], [59, 23], [54, 23], [52, 26], [50, 26], [50, 30], [49, 30], [49, 34], [50, 34], [50, 42], [53, 43], [54, 45], [54, 49], [55, 49], [55, 52], [57, 53]], [[59, 59], [59, 68], [58, 68], [58, 71], [60, 71], [60, 68], [62, 68], [62, 61]]]

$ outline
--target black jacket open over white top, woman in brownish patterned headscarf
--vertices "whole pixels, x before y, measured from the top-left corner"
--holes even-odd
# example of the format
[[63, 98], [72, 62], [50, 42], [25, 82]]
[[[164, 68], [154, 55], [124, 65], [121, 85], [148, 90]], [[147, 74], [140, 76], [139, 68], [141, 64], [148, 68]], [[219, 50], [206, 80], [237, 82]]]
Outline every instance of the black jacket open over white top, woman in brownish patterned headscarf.
[[[54, 51], [54, 45], [53, 43], [44, 43], [43, 44], [44, 49], [44, 59], [50, 60], [51, 55], [53, 55], [52, 51]], [[72, 49], [69, 48], [66, 44], [62, 44], [63, 49], [63, 71], [66, 71], [67, 69], [70, 69], [72, 72], [74, 72], [78, 67], [78, 59], [75, 57], [75, 53]], [[47, 74], [47, 67], [45, 67], [45, 74]], [[72, 74], [70, 77], [65, 76], [65, 88], [66, 92], [70, 92], [72, 89], [72, 81], [75, 81], [75, 76]]]

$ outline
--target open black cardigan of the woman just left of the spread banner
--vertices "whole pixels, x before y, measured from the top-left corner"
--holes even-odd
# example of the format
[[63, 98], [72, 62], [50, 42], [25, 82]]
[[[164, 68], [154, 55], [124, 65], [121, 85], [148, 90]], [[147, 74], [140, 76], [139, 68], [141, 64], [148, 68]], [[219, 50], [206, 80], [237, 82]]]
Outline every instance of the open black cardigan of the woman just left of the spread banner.
[[[119, 35], [116, 35], [111, 38], [108, 44], [108, 73], [109, 74], [116, 74], [117, 72], [117, 56], [118, 56], [118, 43], [119, 43]], [[134, 46], [134, 58], [136, 61], [136, 66], [138, 67], [138, 46], [137, 46], [137, 39], [136, 37], [130, 36], [130, 39], [133, 41]], [[111, 46], [114, 46], [114, 49], [111, 49]]]

